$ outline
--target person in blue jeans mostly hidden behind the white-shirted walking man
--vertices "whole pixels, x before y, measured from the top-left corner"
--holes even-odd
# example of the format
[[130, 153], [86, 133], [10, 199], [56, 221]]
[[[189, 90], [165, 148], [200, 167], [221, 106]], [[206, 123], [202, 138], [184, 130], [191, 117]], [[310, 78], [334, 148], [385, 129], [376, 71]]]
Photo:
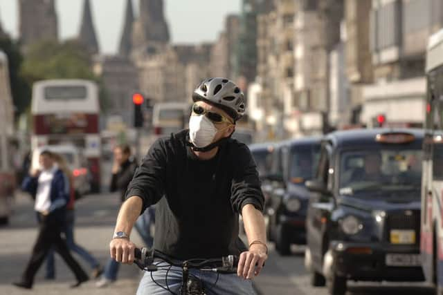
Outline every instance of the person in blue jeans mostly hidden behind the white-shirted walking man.
[[[65, 181], [65, 190], [66, 193], [69, 194], [69, 202], [66, 205], [66, 227], [62, 229], [64, 236], [66, 237], [66, 243], [69, 249], [76, 254], [78, 254], [84, 261], [89, 263], [92, 268], [91, 276], [93, 278], [98, 278], [100, 274], [103, 272], [103, 268], [100, 266], [100, 263], [96, 258], [94, 258], [86, 249], [75, 243], [74, 241], [74, 222], [75, 222], [75, 211], [74, 211], [74, 202], [75, 202], [75, 189], [73, 187], [74, 178], [71, 170], [69, 169], [68, 164], [66, 163], [65, 158], [58, 153], [54, 153], [54, 160], [57, 163], [60, 170], [63, 171], [64, 181]], [[46, 279], [53, 280], [55, 279], [55, 260], [54, 260], [54, 249], [52, 248], [48, 256], [46, 258]]]

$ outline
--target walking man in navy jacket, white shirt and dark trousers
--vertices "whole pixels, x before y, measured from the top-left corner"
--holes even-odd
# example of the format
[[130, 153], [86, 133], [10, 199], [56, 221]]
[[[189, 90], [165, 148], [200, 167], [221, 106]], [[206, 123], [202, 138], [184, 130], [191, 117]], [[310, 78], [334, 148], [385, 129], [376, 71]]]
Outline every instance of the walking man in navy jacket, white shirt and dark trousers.
[[28, 191], [35, 199], [34, 209], [39, 220], [39, 234], [21, 280], [13, 285], [31, 289], [35, 274], [49, 249], [55, 247], [75, 274], [77, 283], [71, 287], [78, 287], [89, 278], [69, 252], [66, 240], [62, 238], [62, 228], [66, 226], [66, 204], [69, 202], [63, 172], [54, 163], [51, 151], [42, 151], [39, 163], [42, 171], [31, 171], [22, 184], [22, 189]]

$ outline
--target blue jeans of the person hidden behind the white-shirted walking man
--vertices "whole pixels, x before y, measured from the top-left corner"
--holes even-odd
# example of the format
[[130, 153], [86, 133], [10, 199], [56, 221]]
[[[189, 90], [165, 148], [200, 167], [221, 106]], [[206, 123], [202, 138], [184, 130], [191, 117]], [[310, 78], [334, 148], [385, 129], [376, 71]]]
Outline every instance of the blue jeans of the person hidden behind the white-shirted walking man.
[[[64, 234], [66, 236], [66, 244], [68, 248], [77, 253], [82, 259], [84, 259], [91, 268], [98, 267], [100, 263], [94, 258], [87, 250], [74, 242], [74, 210], [66, 210], [66, 228], [64, 229]], [[51, 249], [46, 256], [46, 278], [55, 277], [55, 261], [54, 261], [54, 249]]]

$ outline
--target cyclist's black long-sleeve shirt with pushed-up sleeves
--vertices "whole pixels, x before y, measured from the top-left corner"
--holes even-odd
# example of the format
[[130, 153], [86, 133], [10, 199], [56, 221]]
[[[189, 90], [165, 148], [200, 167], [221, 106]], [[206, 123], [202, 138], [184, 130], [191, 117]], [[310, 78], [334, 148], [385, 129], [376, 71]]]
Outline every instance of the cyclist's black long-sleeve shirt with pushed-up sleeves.
[[[244, 251], [239, 213], [246, 204], [262, 211], [264, 197], [245, 144], [228, 140], [211, 160], [186, 146], [188, 131], [157, 140], [126, 193], [156, 206], [154, 248], [179, 259], [216, 258]], [[164, 198], [163, 198], [164, 196]]]

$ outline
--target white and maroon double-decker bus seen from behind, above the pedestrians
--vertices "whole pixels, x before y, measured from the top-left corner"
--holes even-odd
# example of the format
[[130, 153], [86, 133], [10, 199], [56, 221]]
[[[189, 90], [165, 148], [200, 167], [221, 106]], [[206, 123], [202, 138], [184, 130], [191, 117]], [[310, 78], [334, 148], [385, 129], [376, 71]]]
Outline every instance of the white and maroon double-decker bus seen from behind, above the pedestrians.
[[100, 191], [98, 87], [80, 79], [54, 79], [33, 85], [31, 147], [73, 144], [91, 173], [91, 191]]

